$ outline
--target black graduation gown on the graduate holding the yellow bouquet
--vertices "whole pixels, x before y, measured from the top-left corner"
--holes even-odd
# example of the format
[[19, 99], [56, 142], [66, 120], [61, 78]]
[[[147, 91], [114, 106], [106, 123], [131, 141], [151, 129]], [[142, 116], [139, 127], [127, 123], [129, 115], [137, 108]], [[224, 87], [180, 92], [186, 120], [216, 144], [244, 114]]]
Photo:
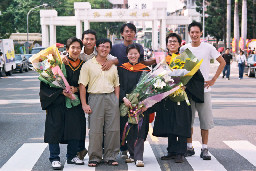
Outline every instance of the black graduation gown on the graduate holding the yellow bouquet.
[[[204, 78], [200, 70], [190, 79], [185, 89], [188, 98], [197, 103], [204, 102]], [[157, 137], [191, 136], [192, 111], [186, 101], [173, 102], [169, 97], [155, 104], [151, 110], [156, 111], [153, 135]]]

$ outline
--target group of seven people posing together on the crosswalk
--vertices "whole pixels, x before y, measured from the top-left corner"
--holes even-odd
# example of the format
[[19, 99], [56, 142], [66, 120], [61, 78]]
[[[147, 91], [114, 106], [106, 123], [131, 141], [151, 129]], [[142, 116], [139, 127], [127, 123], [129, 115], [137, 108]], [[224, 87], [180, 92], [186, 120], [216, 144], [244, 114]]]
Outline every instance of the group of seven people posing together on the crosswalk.
[[[167, 36], [168, 55], [165, 59], [168, 63], [187, 48], [199, 60], [203, 59], [200, 70], [183, 87], [191, 106], [186, 102], [178, 105], [167, 97], [149, 109], [143, 108], [144, 115], [140, 118], [142, 123], [139, 129], [137, 125], [130, 125], [125, 141], [121, 137], [128, 118], [120, 117], [119, 106], [124, 103], [131, 107], [126, 94], [136, 87], [142, 72], [150, 72], [147, 66], [155, 64], [155, 59], [144, 61], [143, 47], [133, 42], [136, 27], [132, 23], [121, 27], [120, 33], [124, 40], [121, 44], [112, 46], [108, 39], [97, 40], [93, 30], [84, 31], [82, 40], [75, 37], [67, 40], [68, 55], [63, 57], [67, 81], [71, 92], [80, 98], [81, 104], [66, 108], [65, 98], [71, 98], [72, 93], [52, 88], [43, 82], [40, 84], [41, 106], [47, 113], [44, 141], [49, 143], [49, 159], [53, 169], [61, 168], [59, 143], [68, 144], [68, 164], [83, 165], [88, 152], [89, 167], [97, 167], [102, 161], [117, 166], [119, 163], [116, 157], [120, 152], [126, 163], [143, 167], [144, 141], [148, 134], [149, 114], [152, 112], [156, 112], [153, 135], [168, 137], [168, 153], [161, 157], [162, 160], [175, 159], [176, 163], [182, 163], [185, 156], [195, 154], [192, 133], [196, 111], [202, 135], [200, 157], [203, 160], [211, 159], [207, 148], [209, 129], [214, 126], [210, 86], [214, 85], [221, 74], [225, 61], [213, 46], [200, 42], [200, 23], [193, 21], [188, 31], [192, 42], [182, 47], [182, 39], [178, 34]], [[211, 59], [216, 59], [219, 67], [214, 77], [209, 79]], [[85, 114], [88, 114], [89, 124], [88, 151], [85, 148]]]

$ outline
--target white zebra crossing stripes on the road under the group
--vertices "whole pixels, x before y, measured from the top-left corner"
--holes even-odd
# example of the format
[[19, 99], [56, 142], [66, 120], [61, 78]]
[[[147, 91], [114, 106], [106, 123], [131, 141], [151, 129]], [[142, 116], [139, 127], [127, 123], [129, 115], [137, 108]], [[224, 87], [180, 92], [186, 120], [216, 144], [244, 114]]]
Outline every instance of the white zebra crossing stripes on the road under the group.
[[[234, 150], [236, 153], [243, 157], [248, 162], [250, 162], [253, 166], [256, 167], [256, 146], [245, 140], [236, 140], [236, 141], [223, 141], [230, 149]], [[86, 142], [86, 146], [88, 146], [88, 142]], [[223, 166], [218, 161], [218, 156], [212, 156], [212, 160], [203, 161], [200, 158], [201, 152], [201, 143], [199, 141], [193, 141], [193, 146], [196, 154], [191, 157], [187, 157], [187, 164], [189, 164], [192, 170], [195, 171], [225, 171], [227, 170], [225, 166]], [[31, 171], [33, 170], [34, 165], [42, 155], [42, 153], [46, 150], [46, 143], [24, 143], [16, 153], [0, 168], [0, 171]], [[85, 157], [85, 165], [70, 165], [67, 162], [63, 166], [64, 171], [92, 171], [97, 170], [97, 168], [88, 167], [88, 155]], [[48, 160], [48, 159], [45, 159]], [[22, 162], [21, 162], [22, 161]], [[166, 167], [161, 167], [157, 158], [155, 157], [155, 153], [153, 148], [151, 147], [148, 141], [145, 142], [145, 150], [144, 150], [144, 163], [145, 167], [138, 168], [134, 164], [123, 164], [127, 165], [129, 171], [161, 171], [170, 170], [166, 169]], [[121, 163], [119, 163], [122, 165]], [[50, 163], [49, 163], [49, 168]], [[104, 170], [104, 169], [103, 169]], [[117, 169], [114, 169], [117, 170]], [[123, 170], [123, 169], [122, 169]]]

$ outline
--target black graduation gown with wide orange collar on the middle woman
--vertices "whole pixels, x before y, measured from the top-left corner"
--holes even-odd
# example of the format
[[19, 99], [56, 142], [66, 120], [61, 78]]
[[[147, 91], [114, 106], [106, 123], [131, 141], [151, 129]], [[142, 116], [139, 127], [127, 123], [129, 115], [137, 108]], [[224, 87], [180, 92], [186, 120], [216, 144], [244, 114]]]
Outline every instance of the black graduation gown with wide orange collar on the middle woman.
[[[118, 67], [118, 75], [119, 75], [119, 83], [120, 83], [120, 95], [119, 101], [123, 103], [123, 98], [126, 94], [132, 92], [132, 90], [136, 87], [137, 83], [140, 80], [141, 74], [143, 71], [150, 71], [145, 65], [138, 63], [136, 65], [132, 65], [129, 62], [122, 64]], [[120, 118], [120, 133], [121, 137], [123, 135], [125, 124], [128, 121], [128, 116], [124, 116]], [[146, 139], [146, 133], [148, 132], [148, 124], [149, 124], [149, 115], [148, 112], [144, 112], [143, 122], [140, 127], [140, 131], [138, 132], [138, 125], [129, 124], [130, 131], [127, 136], [127, 139], [137, 139], [143, 138]]]

